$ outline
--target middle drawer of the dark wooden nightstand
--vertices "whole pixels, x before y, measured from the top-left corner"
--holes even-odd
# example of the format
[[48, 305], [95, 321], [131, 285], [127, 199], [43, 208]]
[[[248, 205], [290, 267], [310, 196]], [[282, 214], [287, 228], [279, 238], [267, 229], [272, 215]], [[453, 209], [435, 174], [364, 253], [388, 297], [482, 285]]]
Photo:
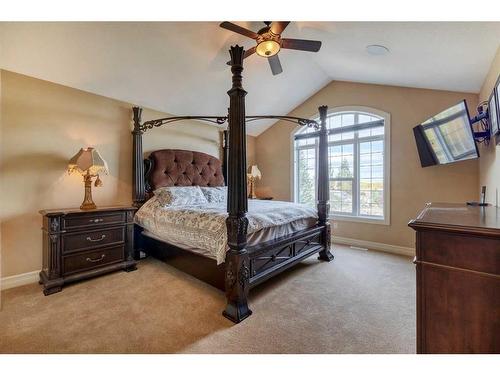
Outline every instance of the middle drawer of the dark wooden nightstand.
[[73, 253], [125, 242], [125, 227], [66, 233], [62, 237], [63, 253]]

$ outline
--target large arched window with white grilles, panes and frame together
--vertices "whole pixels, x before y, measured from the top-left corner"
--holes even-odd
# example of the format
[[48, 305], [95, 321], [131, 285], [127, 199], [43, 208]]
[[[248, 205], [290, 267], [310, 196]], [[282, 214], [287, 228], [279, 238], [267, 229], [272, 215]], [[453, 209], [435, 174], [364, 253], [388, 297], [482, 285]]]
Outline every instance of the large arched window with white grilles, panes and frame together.
[[[318, 119], [317, 119], [318, 120]], [[389, 223], [389, 114], [372, 108], [329, 111], [330, 214], [338, 219]], [[318, 137], [294, 136], [294, 200], [316, 204]]]

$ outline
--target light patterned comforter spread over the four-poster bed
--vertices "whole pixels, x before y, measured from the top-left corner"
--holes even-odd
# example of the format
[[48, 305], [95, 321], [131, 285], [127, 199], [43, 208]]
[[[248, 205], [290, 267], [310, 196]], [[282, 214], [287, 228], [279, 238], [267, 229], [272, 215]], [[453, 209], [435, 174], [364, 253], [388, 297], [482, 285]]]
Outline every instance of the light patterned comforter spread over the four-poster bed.
[[[148, 200], [136, 213], [134, 222], [144, 235], [224, 263], [227, 230], [226, 203], [192, 206], [160, 204], [157, 197]], [[286, 236], [314, 226], [316, 209], [306, 205], [269, 200], [248, 201], [247, 245]]]

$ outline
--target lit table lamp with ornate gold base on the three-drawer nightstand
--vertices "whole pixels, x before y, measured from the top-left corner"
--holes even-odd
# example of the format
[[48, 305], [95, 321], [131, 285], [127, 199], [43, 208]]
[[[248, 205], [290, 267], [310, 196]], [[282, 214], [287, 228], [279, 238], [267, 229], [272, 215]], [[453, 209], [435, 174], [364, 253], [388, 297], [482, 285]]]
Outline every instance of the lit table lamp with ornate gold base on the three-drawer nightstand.
[[92, 147], [82, 148], [78, 153], [71, 158], [68, 164], [68, 173], [80, 172], [83, 175], [85, 183], [85, 198], [83, 199], [80, 209], [92, 210], [96, 208], [92, 200], [92, 178], [95, 180], [95, 187], [101, 187], [102, 181], [99, 178], [99, 173], [108, 174], [108, 165], [101, 157], [99, 152]]

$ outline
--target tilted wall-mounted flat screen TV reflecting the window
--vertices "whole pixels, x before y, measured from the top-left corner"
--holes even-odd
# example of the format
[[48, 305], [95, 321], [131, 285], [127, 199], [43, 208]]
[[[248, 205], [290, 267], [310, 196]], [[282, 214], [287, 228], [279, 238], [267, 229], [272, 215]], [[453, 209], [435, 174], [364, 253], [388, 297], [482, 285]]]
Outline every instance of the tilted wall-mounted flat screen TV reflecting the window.
[[413, 133], [422, 167], [479, 157], [465, 100], [417, 125]]

